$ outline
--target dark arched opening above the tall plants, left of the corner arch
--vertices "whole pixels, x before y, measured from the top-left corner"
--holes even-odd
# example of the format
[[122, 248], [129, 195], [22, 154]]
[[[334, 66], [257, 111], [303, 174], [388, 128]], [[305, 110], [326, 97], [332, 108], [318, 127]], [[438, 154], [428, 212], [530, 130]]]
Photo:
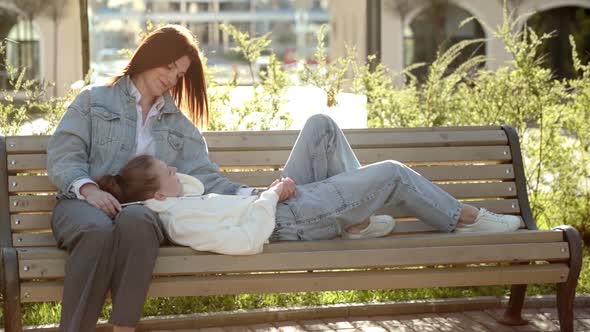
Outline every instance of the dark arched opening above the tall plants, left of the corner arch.
[[[404, 26], [404, 65], [407, 67], [420, 62], [431, 64], [439, 50], [444, 52], [463, 40], [485, 38], [483, 27], [477, 20], [460, 27], [461, 22], [472, 16], [451, 1], [432, 1]], [[456, 67], [470, 57], [485, 54], [484, 44], [471, 45], [452, 66]], [[428, 66], [425, 66], [416, 69], [414, 74], [424, 79], [427, 72]]]

